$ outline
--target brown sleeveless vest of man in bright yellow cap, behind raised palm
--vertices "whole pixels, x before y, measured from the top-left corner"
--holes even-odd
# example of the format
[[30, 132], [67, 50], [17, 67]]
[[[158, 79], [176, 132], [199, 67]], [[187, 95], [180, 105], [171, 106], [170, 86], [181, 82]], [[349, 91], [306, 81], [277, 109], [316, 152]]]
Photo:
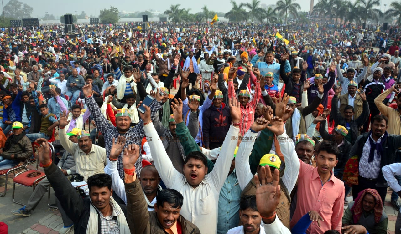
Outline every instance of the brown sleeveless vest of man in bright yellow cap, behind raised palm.
[[[280, 202], [275, 210], [277, 217], [279, 220], [286, 226], [290, 228], [290, 193], [288, 192], [286, 186], [280, 180]], [[241, 197], [244, 195], [255, 195], [256, 194], [256, 185], [253, 180], [251, 180], [248, 185], [244, 188], [241, 193]]]

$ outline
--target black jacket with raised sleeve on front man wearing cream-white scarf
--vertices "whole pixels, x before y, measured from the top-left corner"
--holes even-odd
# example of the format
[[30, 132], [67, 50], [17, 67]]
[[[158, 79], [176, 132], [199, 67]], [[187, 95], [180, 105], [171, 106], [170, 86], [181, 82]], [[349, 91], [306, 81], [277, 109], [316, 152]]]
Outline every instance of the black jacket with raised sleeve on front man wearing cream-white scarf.
[[[65, 213], [74, 223], [74, 233], [85, 234], [91, 210], [91, 200], [84, 199], [77, 193], [77, 190], [56, 164], [53, 163], [51, 166], [45, 167], [45, 174]], [[97, 216], [97, 218], [98, 233], [100, 234], [100, 217]]]

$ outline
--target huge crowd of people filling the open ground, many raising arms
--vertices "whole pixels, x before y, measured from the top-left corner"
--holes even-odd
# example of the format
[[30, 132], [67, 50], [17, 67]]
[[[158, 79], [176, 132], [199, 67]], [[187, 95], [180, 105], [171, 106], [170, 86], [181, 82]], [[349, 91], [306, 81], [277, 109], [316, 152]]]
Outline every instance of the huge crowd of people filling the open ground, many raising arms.
[[51, 186], [61, 234], [387, 233], [389, 187], [401, 208], [398, 27], [62, 30], [0, 33], [0, 170], [37, 151], [46, 174], [12, 214]]

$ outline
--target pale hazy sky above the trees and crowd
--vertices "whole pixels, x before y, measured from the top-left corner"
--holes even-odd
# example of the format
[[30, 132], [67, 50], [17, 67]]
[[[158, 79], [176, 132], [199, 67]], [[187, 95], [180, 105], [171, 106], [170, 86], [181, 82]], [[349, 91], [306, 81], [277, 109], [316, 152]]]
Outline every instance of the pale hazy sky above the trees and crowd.
[[[3, 0], [4, 5], [9, 0]], [[160, 12], [164, 12], [164, 10], [168, 9], [171, 4], [180, 3], [182, 8], [191, 8], [190, 12], [195, 13], [201, 11], [203, 5], [207, 5], [209, 10], [215, 10], [218, 12], [227, 12], [231, 9], [231, 4], [229, 0], [203, 0], [203, 1], [172, 1], [172, 0], [150, 0], [150, 1], [139, 1], [139, 0], [95, 0], [95, 1], [82, 1], [82, 0], [69, 0], [68, 4], [59, 4], [59, 1], [51, 1], [51, 0], [19, 0], [20, 2], [26, 3], [33, 7], [32, 17], [33, 18], [41, 18], [45, 15], [45, 12], [49, 12], [49, 14], [53, 14], [56, 18], [59, 18], [61, 15], [66, 13], [75, 14], [75, 10], [77, 10], [77, 14], [80, 14], [81, 11], [85, 11], [87, 15], [99, 15], [100, 10], [104, 8], [108, 8], [111, 4], [117, 7], [120, 11], [125, 10], [126, 12], [136, 12], [136, 11], [144, 11], [144, 10], [158, 10]], [[309, 10], [310, 1], [309, 0], [295, 0], [298, 4], [301, 5], [301, 9], [303, 11]], [[354, 2], [355, 0], [351, 0]], [[386, 10], [388, 10], [389, 5], [394, 0], [381, 0], [382, 1], [382, 9], [384, 10], [384, 4], [387, 4]], [[237, 0], [237, 3], [240, 2], [251, 2], [251, 0]], [[275, 4], [277, 0], [261, 0], [261, 4]], [[318, 0], [314, 0], [314, 4], [316, 4]], [[145, 3], [145, 4], [144, 4]], [[148, 3], [146, 5], [146, 3]], [[379, 8], [379, 7], [378, 7]]]

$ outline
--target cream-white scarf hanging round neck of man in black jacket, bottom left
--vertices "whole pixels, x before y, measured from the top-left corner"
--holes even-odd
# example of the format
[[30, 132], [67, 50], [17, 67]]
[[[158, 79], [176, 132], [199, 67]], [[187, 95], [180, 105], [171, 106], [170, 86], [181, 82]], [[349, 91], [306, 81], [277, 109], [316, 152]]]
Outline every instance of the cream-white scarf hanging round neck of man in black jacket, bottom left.
[[[124, 212], [121, 210], [120, 206], [115, 202], [113, 197], [110, 197], [110, 203], [113, 204], [114, 208], [119, 211], [119, 215], [117, 216], [117, 221], [118, 221], [118, 227], [120, 228], [120, 234], [128, 234], [130, 233], [130, 228], [128, 227], [126, 217], [124, 215]], [[98, 233], [98, 221], [97, 217], [99, 214], [97, 213], [97, 210], [95, 206], [91, 203], [91, 213], [89, 215], [89, 220], [88, 220], [88, 226], [86, 227], [86, 233], [87, 234], [97, 234]]]

